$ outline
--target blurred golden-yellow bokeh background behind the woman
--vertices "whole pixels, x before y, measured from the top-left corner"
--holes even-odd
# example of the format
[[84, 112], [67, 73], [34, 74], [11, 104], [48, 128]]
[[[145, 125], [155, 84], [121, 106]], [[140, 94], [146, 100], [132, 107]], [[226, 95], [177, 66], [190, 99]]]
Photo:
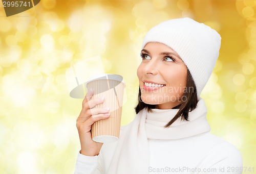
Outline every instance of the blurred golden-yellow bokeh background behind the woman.
[[[203, 93], [211, 133], [235, 145], [243, 173], [256, 173], [256, 1], [42, 0], [6, 17], [0, 3], [0, 173], [73, 173], [80, 150], [65, 73], [100, 55], [106, 73], [123, 76], [122, 125], [135, 116], [140, 46], [161, 21], [190, 17], [222, 36]], [[195, 43], [196, 44], [196, 43]], [[189, 145], [189, 144], [188, 144]]]

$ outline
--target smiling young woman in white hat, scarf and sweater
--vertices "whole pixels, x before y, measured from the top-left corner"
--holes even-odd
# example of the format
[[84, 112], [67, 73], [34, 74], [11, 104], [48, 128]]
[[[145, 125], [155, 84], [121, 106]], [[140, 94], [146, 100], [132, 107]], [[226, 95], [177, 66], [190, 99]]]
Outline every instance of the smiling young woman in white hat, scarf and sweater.
[[92, 124], [110, 113], [94, 108], [104, 99], [91, 100], [89, 91], [77, 118], [81, 151], [75, 173], [242, 173], [237, 148], [210, 134], [200, 98], [220, 44], [215, 30], [190, 18], [152, 28], [141, 48], [135, 119], [121, 128], [117, 142], [94, 142]]

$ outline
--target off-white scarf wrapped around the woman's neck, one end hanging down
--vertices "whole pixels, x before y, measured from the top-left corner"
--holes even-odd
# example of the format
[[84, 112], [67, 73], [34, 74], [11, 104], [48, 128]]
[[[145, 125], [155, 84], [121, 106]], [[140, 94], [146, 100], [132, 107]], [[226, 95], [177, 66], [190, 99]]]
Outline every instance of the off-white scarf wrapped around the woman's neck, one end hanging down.
[[210, 131], [206, 120], [206, 106], [201, 99], [197, 108], [189, 112], [189, 121], [178, 118], [169, 128], [164, 126], [179, 109], [141, 110], [135, 119], [122, 130], [108, 174], [149, 173], [150, 152], [148, 139], [172, 140]]

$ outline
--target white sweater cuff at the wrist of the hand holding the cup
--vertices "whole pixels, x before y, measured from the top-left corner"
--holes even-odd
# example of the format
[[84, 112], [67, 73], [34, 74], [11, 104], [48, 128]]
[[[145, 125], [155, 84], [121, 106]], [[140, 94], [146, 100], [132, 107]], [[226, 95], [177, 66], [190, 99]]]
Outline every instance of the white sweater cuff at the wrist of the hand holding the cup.
[[100, 167], [100, 157], [85, 156], [78, 153], [74, 174], [96, 174], [103, 173]]

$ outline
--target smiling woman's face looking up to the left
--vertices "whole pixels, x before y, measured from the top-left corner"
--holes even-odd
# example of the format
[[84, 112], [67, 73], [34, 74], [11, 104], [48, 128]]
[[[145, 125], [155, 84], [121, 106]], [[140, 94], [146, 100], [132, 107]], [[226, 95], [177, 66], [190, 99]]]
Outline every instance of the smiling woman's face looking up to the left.
[[184, 102], [187, 68], [179, 55], [159, 42], [148, 42], [137, 69], [141, 99], [158, 109], [172, 109]]

